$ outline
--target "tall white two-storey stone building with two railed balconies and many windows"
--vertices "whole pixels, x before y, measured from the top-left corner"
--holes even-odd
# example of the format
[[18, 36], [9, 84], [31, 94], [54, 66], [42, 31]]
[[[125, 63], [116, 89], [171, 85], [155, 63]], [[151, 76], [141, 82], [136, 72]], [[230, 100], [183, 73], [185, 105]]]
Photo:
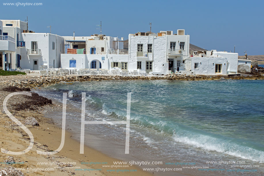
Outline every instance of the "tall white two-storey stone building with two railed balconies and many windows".
[[136, 33], [128, 36], [129, 70], [147, 73], [185, 70], [185, 58], [189, 56], [190, 36], [185, 30]]

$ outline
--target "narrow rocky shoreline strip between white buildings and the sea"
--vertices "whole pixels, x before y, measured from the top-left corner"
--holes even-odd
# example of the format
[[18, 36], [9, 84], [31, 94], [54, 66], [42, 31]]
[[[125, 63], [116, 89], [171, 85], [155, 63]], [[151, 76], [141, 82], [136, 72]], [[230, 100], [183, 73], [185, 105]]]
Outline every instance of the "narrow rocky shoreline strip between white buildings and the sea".
[[199, 80], [264, 80], [264, 75], [241, 75], [228, 77], [227, 75], [166, 75], [166, 76], [119, 76], [119, 75], [66, 75], [66, 76], [33, 76], [21, 80], [6, 80], [3, 84], [33, 88], [43, 87], [59, 82], [83, 82], [83, 81], [102, 81], [102, 80], [185, 80], [185, 81], [199, 81]]

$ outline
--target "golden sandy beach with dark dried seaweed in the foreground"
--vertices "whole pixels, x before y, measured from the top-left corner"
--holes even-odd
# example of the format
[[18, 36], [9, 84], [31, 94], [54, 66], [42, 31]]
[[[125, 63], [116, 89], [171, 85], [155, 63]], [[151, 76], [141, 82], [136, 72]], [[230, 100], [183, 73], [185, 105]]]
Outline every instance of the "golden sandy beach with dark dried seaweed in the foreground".
[[[8, 76], [2, 79], [24, 79], [24, 76]], [[5, 89], [7, 88], [7, 89]], [[0, 101], [11, 92], [20, 91], [10, 89], [3, 84], [0, 88]], [[37, 101], [37, 100], [36, 100]], [[57, 105], [44, 102], [43, 106], [38, 106], [35, 100], [24, 95], [11, 97], [7, 103], [7, 109], [24, 124], [26, 118], [33, 117], [39, 126], [26, 125], [34, 136], [33, 148], [26, 154], [8, 155], [1, 153], [1, 164], [3, 168], [20, 169], [24, 175], [153, 175], [147, 173], [137, 166], [119, 167], [120, 170], [130, 170], [130, 172], [107, 171], [113, 165], [113, 161], [121, 161], [102, 154], [92, 148], [84, 146], [84, 154], [79, 154], [80, 144], [71, 138], [71, 133], [66, 131], [65, 143], [60, 152], [54, 155], [40, 155], [36, 150], [53, 151], [60, 146], [61, 128], [56, 126], [51, 119], [45, 118], [43, 112], [47, 108], [59, 108]], [[18, 105], [26, 102], [26, 106]], [[39, 102], [43, 104], [43, 102]], [[29, 136], [16, 125], [3, 110], [0, 112], [0, 135], [2, 136], [0, 147], [9, 151], [19, 152], [29, 146]], [[12, 156], [12, 157], [10, 157]], [[10, 162], [10, 163], [8, 163]], [[136, 172], [136, 174], [135, 174]], [[18, 174], [19, 175], [19, 174]]]

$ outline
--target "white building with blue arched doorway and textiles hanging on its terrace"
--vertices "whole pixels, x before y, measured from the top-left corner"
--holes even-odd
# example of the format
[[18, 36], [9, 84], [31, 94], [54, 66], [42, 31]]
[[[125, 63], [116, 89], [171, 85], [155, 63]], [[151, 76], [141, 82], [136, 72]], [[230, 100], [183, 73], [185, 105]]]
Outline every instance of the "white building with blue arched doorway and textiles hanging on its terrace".
[[[89, 37], [75, 37], [74, 35], [63, 38], [65, 54], [61, 54], [62, 68], [128, 69], [128, 50], [123, 49], [123, 38], [98, 34]], [[68, 48], [76, 49], [79, 54], [72, 54], [72, 50], [67, 52]]]

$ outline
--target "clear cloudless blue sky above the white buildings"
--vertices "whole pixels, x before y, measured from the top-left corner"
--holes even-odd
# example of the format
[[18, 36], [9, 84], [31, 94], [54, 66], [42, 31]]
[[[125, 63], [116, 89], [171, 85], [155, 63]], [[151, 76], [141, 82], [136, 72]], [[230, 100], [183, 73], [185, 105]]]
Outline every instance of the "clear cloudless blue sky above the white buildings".
[[128, 38], [129, 33], [185, 29], [190, 43], [205, 49], [264, 54], [264, 1], [10, 1], [41, 6], [4, 6], [0, 19], [29, 19], [29, 30], [61, 36], [102, 34]]

